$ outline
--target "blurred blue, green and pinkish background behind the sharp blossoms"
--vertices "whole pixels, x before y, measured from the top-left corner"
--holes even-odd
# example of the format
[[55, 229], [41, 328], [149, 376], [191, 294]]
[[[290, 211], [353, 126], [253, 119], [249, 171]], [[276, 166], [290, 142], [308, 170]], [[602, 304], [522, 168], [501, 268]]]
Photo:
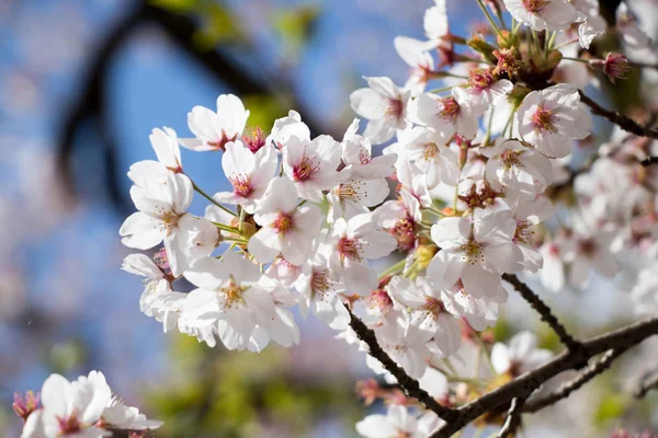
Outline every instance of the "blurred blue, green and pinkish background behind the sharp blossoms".
[[[367, 410], [354, 382], [370, 373], [363, 355], [317, 321], [300, 322], [299, 346], [254, 355], [163, 334], [139, 312], [139, 279], [120, 270], [128, 251], [117, 230], [133, 208], [125, 173], [152, 158], [154, 127], [190, 136], [186, 113], [194, 105], [213, 108], [219, 93], [240, 95], [251, 127], [266, 131], [294, 108], [314, 134], [341, 138], [354, 116], [348, 97], [363, 87], [362, 76], [404, 83], [408, 67], [393, 38], [421, 37], [430, 5], [0, 0], [1, 436], [20, 434], [11, 413], [15, 390], [38, 390], [50, 372], [77, 377], [92, 369], [163, 419], [161, 437], [355, 436], [354, 423]], [[475, 1], [449, 1], [449, 9], [454, 33], [468, 34], [481, 20]], [[624, 107], [610, 90], [594, 94]], [[583, 147], [609, 132], [602, 126], [595, 142]], [[183, 162], [206, 192], [226, 186], [219, 154], [183, 150]], [[193, 209], [203, 209], [200, 199]], [[631, 318], [627, 297], [597, 281], [586, 292], [546, 300], [580, 333]], [[574, 309], [586, 309], [587, 319]], [[529, 315], [512, 299], [498, 336], [530, 327], [544, 346], [556, 347]], [[655, 350], [649, 345], [639, 353]], [[628, 367], [639, 369], [637, 362], [631, 357], [570, 399], [577, 407], [571, 416], [581, 423], [567, 416], [556, 426], [548, 413], [536, 436], [560, 436], [559, 427], [605, 436], [622, 424], [656, 426], [655, 397], [636, 403], [619, 391], [621, 377]]]

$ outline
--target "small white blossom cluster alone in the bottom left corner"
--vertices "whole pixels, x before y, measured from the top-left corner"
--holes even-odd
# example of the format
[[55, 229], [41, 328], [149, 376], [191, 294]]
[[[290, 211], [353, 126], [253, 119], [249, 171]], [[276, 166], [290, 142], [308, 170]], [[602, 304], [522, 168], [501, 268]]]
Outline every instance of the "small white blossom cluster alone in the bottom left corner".
[[99, 371], [72, 382], [52, 374], [39, 393], [16, 393], [13, 410], [25, 422], [21, 438], [100, 438], [112, 436], [112, 430], [131, 431], [137, 438], [162, 425], [112, 394]]

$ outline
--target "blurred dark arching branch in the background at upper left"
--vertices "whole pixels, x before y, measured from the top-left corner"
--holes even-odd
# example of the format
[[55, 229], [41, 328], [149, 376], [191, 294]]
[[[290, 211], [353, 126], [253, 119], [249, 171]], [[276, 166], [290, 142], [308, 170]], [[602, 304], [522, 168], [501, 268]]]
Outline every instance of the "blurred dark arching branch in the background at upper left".
[[[314, 136], [325, 132], [322, 125], [313, 118], [302, 101], [281, 77], [269, 81], [259, 81], [247, 74], [243, 69], [237, 67], [235, 59], [220, 50], [201, 50], [196, 45], [195, 35], [198, 24], [192, 18], [173, 13], [150, 4], [148, 1], [135, 2], [133, 9], [124, 15], [107, 33], [104, 39], [91, 51], [86, 71], [82, 74], [80, 93], [73, 97], [72, 103], [63, 114], [61, 131], [57, 139], [58, 169], [63, 175], [64, 186], [73, 194], [73, 170], [72, 154], [76, 135], [80, 126], [91, 119], [100, 126], [100, 142], [89, 142], [89, 147], [102, 148], [100, 152], [104, 157], [105, 185], [110, 197], [115, 205], [122, 208], [131, 208], [121, 189], [118, 176], [123, 176], [124, 170], [116, 166], [116, 145], [112, 127], [110, 126], [104, 100], [105, 87], [110, 64], [115, 54], [132, 37], [134, 32], [143, 24], [155, 23], [167, 36], [182, 50], [197, 61], [203, 68], [213, 73], [237, 94], [265, 94], [280, 97], [282, 102], [291, 101], [290, 105], [303, 114], [304, 122]], [[92, 125], [93, 126], [93, 125]], [[331, 134], [331, 132], [330, 132]], [[333, 132], [337, 134], [337, 132]], [[87, 146], [87, 145], [86, 145]]]

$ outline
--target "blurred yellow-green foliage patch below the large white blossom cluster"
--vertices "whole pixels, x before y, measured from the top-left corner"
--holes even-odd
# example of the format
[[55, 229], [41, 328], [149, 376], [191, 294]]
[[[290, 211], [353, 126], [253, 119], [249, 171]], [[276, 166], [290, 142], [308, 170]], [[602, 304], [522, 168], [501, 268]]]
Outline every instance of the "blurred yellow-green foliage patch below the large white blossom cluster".
[[349, 377], [299, 376], [284, 348], [256, 356], [175, 336], [169, 359], [172, 378], [146, 397], [149, 414], [167, 418], [162, 438], [254, 437], [265, 428], [313, 436], [328, 416], [349, 429], [363, 414]]

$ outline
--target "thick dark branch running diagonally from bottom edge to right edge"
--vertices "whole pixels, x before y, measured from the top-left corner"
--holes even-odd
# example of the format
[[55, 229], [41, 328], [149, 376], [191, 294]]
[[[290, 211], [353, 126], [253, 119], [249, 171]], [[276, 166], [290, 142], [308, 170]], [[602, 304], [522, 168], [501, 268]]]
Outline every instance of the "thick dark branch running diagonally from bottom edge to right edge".
[[589, 358], [610, 349], [619, 349], [619, 354], [622, 354], [656, 334], [658, 334], [658, 318], [640, 321], [583, 342], [579, 348], [566, 350], [543, 366], [457, 408], [456, 419], [446, 422], [432, 435], [432, 438], [449, 438], [484, 413], [503, 406], [514, 397], [530, 396], [548, 379], [560, 372], [579, 368]]

